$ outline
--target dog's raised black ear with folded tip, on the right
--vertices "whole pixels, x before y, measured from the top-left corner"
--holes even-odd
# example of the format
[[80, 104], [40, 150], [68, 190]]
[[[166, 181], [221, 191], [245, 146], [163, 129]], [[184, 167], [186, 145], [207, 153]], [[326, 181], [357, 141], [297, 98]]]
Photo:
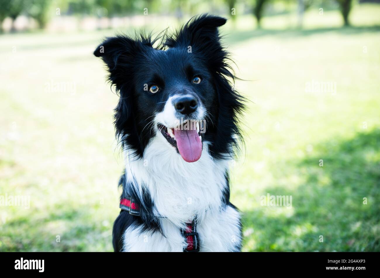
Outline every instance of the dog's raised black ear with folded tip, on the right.
[[176, 34], [169, 37], [165, 45], [168, 47], [192, 46], [192, 48], [207, 47], [219, 42], [218, 27], [226, 23], [219, 16], [203, 14], [190, 19]]

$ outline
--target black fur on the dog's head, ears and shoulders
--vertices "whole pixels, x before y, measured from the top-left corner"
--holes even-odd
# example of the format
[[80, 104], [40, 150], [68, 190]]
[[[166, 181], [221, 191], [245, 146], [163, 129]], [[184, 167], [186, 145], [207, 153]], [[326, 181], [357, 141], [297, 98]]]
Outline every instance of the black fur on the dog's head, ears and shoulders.
[[[225, 23], [222, 17], [204, 14], [194, 17], [170, 36], [164, 33], [152, 39], [143, 33], [135, 37], [119, 34], [106, 38], [96, 48], [93, 54], [105, 62], [108, 80], [120, 96], [114, 110], [114, 124], [122, 146], [128, 145], [141, 158], [155, 135], [150, 127], [154, 114], [163, 110], [165, 101], [174, 91], [190, 89], [207, 111], [207, 131], [202, 140], [211, 143], [210, 155], [223, 159], [236, 154], [237, 141], [241, 139], [238, 117], [244, 109], [245, 99], [232, 88], [235, 76], [228, 65], [229, 54], [220, 43], [218, 27]], [[191, 83], [195, 75], [202, 78], [201, 86]], [[148, 87], [158, 85], [160, 93], [144, 91], [144, 84]], [[231, 205], [228, 174], [225, 176], [228, 187], [223, 192], [223, 203]], [[144, 206], [141, 217], [120, 212], [113, 227], [115, 251], [122, 250], [122, 235], [130, 225], [139, 225], [146, 231], [160, 231], [149, 193], [143, 192], [143, 200], [139, 200], [126, 180], [124, 174], [120, 179], [122, 198], [133, 195]]]

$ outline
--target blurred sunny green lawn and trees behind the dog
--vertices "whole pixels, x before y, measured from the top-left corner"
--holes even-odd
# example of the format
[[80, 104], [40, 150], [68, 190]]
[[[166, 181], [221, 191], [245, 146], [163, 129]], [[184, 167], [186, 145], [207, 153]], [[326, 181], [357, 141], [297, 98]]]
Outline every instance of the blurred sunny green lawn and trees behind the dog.
[[379, 2], [0, 0], [0, 251], [112, 251], [124, 164], [92, 52], [203, 12], [229, 19], [250, 100], [231, 167], [243, 250], [380, 251]]

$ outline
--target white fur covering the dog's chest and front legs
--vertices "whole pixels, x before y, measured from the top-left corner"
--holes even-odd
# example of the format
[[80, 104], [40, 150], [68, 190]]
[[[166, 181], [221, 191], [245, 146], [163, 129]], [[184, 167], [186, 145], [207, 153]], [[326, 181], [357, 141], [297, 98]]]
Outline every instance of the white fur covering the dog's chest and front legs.
[[[180, 227], [197, 216], [201, 251], [234, 251], [241, 241], [239, 213], [227, 206], [222, 196], [226, 189], [228, 161], [214, 160], [204, 143], [201, 158], [185, 162], [162, 136], [154, 137], [144, 158], [130, 158], [125, 151], [127, 179], [134, 179], [136, 192], [148, 189], [161, 220], [165, 237], [144, 233], [136, 226], [125, 231], [125, 251], [182, 251], [185, 242]], [[144, 204], [142, 204], [144, 205]]]

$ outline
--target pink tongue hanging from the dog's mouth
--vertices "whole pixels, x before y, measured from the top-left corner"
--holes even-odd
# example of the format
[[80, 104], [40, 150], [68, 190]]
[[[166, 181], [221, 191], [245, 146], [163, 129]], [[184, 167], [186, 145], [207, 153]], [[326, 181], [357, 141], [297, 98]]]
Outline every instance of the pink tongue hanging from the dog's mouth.
[[174, 136], [176, 136], [179, 153], [186, 162], [195, 162], [201, 157], [202, 141], [196, 129], [174, 129]]

